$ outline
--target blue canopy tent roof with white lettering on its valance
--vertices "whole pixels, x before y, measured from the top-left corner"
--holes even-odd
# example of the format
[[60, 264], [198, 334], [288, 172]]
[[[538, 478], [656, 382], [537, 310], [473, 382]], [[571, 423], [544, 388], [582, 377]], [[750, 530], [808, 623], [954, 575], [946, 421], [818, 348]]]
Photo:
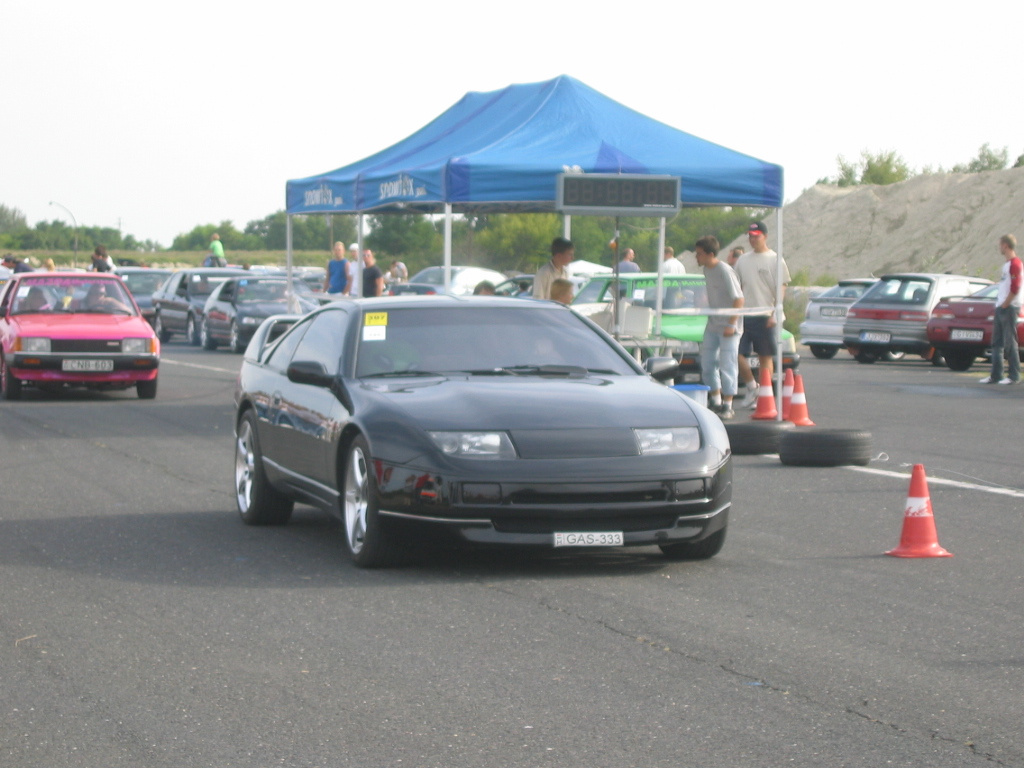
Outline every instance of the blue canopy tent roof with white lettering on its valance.
[[553, 211], [564, 171], [679, 176], [683, 205], [782, 205], [781, 167], [651, 120], [563, 75], [467, 93], [393, 146], [289, 181], [286, 211]]

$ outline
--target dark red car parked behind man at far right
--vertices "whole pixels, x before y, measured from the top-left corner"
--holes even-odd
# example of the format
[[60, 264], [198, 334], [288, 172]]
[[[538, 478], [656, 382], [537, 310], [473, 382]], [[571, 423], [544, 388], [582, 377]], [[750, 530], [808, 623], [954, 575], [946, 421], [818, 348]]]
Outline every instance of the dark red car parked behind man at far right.
[[[935, 305], [928, 321], [928, 340], [946, 358], [952, 371], [967, 371], [989, 353], [998, 285], [977, 293], [947, 298]], [[1017, 341], [1024, 348], [1024, 325], [1017, 319]]]

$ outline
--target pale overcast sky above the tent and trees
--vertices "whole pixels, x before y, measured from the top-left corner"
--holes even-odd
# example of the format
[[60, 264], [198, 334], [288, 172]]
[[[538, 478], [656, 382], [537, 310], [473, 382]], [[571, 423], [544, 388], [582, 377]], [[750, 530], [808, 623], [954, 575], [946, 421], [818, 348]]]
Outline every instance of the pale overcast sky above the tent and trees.
[[0, 204], [164, 246], [242, 229], [467, 91], [558, 75], [781, 165], [787, 201], [865, 150], [1013, 162], [1022, 7], [2, 0]]

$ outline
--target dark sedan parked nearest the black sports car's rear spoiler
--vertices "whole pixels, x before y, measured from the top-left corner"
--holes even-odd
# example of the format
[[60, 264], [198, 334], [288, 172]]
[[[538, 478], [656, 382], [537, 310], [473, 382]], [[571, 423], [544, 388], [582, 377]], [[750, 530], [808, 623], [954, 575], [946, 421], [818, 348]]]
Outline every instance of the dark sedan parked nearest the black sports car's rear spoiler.
[[[302, 313], [321, 303], [301, 280], [293, 280], [295, 301]], [[226, 344], [232, 352], [244, 352], [259, 325], [272, 314], [293, 309], [288, 301], [288, 279], [246, 275], [229, 278], [213, 289], [203, 307], [200, 340], [206, 349]]]

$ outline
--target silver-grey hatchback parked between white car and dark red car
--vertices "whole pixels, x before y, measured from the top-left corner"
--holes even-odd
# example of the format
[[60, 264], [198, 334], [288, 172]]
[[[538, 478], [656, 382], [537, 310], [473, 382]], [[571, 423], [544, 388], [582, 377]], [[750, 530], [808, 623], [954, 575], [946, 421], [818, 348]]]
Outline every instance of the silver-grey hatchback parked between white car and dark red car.
[[944, 297], [968, 296], [990, 284], [964, 274], [885, 274], [847, 310], [843, 343], [858, 362], [906, 352], [941, 365], [941, 353], [928, 340], [932, 309]]

